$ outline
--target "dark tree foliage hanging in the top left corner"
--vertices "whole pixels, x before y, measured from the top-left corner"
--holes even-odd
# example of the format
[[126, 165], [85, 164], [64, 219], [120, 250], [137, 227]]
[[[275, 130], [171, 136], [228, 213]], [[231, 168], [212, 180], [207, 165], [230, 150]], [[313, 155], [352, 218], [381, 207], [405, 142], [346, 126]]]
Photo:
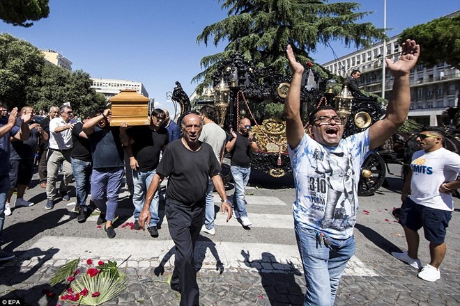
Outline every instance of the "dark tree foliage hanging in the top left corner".
[[1, 0], [0, 19], [14, 26], [29, 27], [49, 15], [49, 0]]

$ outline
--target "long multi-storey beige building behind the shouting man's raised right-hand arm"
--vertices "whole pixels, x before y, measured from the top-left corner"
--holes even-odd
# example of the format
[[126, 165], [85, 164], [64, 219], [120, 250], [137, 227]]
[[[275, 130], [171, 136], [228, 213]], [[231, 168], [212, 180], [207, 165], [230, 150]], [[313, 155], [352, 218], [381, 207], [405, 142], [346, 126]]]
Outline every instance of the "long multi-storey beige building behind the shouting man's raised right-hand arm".
[[[452, 17], [460, 11], [447, 15]], [[346, 56], [323, 64], [332, 74], [347, 77], [352, 70], [360, 70], [359, 86], [362, 90], [381, 96], [383, 83], [383, 48], [385, 56], [393, 61], [399, 59], [401, 47], [399, 35], [385, 42], [378, 42], [366, 49], [360, 49]], [[385, 71], [385, 98], [391, 96], [393, 78]], [[448, 123], [446, 108], [458, 106], [460, 95], [460, 70], [447, 63], [435, 67], [419, 64], [411, 71], [411, 111], [408, 117], [421, 124], [440, 126]]]

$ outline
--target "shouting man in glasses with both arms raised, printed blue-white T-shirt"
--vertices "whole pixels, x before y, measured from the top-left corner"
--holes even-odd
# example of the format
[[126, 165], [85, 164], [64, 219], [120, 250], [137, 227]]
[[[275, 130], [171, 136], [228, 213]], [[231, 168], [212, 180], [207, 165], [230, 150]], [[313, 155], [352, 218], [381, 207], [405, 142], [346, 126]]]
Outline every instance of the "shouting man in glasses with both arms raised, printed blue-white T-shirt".
[[294, 226], [307, 284], [304, 305], [334, 305], [340, 277], [355, 253], [353, 227], [361, 164], [406, 120], [411, 104], [409, 76], [420, 46], [406, 40], [401, 47], [399, 61], [386, 60], [394, 85], [385, 118], [344, 139], [342, 120], [332, 106], [312, 112], [309, 135], [305, 134], [300, 118], [304, 67], [296, 61], [293, 48], [287, 47], [293, 76], [284, 104], [286, 138], [297, 193]]

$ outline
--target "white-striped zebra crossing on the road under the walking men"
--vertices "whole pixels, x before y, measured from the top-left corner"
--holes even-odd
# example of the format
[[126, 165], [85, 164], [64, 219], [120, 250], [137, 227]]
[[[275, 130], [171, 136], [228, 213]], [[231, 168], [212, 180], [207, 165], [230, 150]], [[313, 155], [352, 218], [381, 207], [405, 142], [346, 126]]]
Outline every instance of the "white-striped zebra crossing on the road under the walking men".
[[[251, 188], [248, 188], [251, 191]], [[121, 198], [126, 198], [128, 192], [122, 193]], [[215, 204], [220, 206], [220, 197], [214, 194]], [[247, 195], [247, 211], [252, 221], [251, 230], [245, 230], [233, 218], [227, 223], [224, 216], [217, 213], [215, 236], [201, 234], [197, 241], [195, 259], [197, 266], [215, 268], [224, 266], [227, 271], [232, 269], [254, 269], [248, 263], [266, 262], [266, 270], [270, 267], [279, 269], [296, 269], [302, 271], [302, 264], [298, 255], [296, 239], [293, 234], [293, 216], [291, 214], [291, 203], [285, 203], [279, 198], [266, 195]], [[59, 223], [68, 222], [75, 218], [72, 213], [75, 202], [68, 203], [68, 214], [65, 214]], [[276, 214], [267, 212], [276, 211]], [[68, 259], [98, 258], [108, 259], [117, 262], [125, 261], [124, 266], [141, 267], [155, 266], [164, 262], [164, 266], [174, 264], [174, 243], [167, 231], [167, 218], [163, 218], [160, 239], [152, 239], [146, 232], [130, 231], [129, 225], [134, 222], [132, 209], [125, 207], [118, 209], [117, 214], [122, 218], [123, 225], [116, 226], [117, 236], [115, 239], [107, 239], [103, 229], [95, 224], [98, 214], [90, 216], [86, 227], [95, 227], [95, 234], [79, 237], [78, 247], [75, 247], [75, 237], [72, 236], [42, 236], [24, 254], [24, 258], [30, 261], [40, 260], [43, 257], [41, 250], [54, 249], [53, 261], [56, 264], [63, 264]], [[72, 222], [75, 222], [72, 220]], [[268, 234], [267, 234], [268, 233]], [[240, 236], [238, 236], [240, 235]], [[279, 236], [280, 239], [277, 239]], [[286, 239], [286, 235], [289, 239]], [[234, 237], [236, 236], [236, 238]], [[245, 237], [249, 236], [249, 237]], [[261, 237], [253, 241], [254, 237]], [[232, 237], [233, 239], [227, 239]], [[238, 237], [242, 237], [239, 239]], [[244, 239], [243, 239], [244, 238]], [[284, 238], [284, 239], [283, 239]], [[283, 241], [284, 243], [277, 243]], [[287, 241], [287, 242], [286, 242]], [[377, 276], [371, 268], [365, 266], [360, 259], [353, 257], [349, 262], [345, 275], [355, 276]]]

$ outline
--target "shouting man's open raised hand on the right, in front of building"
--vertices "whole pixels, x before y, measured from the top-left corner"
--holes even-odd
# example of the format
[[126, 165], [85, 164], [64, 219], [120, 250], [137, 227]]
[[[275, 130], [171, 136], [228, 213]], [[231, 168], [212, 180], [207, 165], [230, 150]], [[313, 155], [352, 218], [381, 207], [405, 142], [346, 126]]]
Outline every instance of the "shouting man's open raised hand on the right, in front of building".
[[415, 40], [408, 39], [401, 47], [402, 52], [399, 61], [393, 62], [390, 58], [385, 59], [388, 69], [391, 70], [394, 77], [409, 74], [420, 56], [420, 45], [417, 45]]

